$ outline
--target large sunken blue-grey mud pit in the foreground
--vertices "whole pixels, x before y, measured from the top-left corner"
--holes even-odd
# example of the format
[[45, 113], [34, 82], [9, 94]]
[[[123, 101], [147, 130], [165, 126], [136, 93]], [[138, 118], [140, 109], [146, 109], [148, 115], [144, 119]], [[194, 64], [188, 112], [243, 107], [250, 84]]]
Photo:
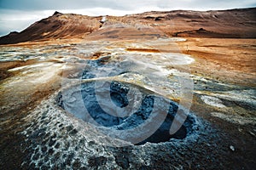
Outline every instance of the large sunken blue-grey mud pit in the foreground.
[[[131, 95], [133, 99], [129, 99]], [[84, 122], [107, 129], [106, 135], [132, 144], [185, 139], [197, 129], [195, 116], [189, 115], [182, 127], [171, 135], [169, 131], [178, 105], [127, 82], [83, 82], [62, 90], [57, 102]]]

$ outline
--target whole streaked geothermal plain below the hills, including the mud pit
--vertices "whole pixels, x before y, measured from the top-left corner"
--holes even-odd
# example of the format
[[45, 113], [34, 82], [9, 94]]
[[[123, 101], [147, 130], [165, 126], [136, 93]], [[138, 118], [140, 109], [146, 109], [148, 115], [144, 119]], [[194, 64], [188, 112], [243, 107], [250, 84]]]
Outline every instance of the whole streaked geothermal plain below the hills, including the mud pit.
[[[143, 41], [66, 40], [2, 46], [1, 167], [252, 169], [255, 72], [236, 74], [224, 71], [226, 65], [213, 59], [201, 59], [199, 56], [207, 58], [212, 53], [196, 54], [201, 41], [216, 40], [154, 37]], [[255, 46], [244, 47], [242, 42], [237, 47], [241, 40], [233, 41], [237, 41], [233, 43], [235, 48], [255, 57]], [[188, 44], [189, 50], [183, 50]], [[226, 48], [211, 47], [220, 48], [219, 54]], [[216, 69], [214, 74], [213, 68], [224, 73]], [[230, 79], [234, 74], [237, 80]], [[179, 105], [183, 75], [193, 86], [193, 98], [187, 101], [191, 109], [182, 127], [170, 135], [177, 109], [183, 107]], [[97, 88], [96, 83], [100, 83]], [[108, 88], [99, 88], [104, 84]], [[125, 116], [109, 115], [111, 104], [107, 103], [105, 109], [98, 104], [104, 101], [100, 94], [105, 91], [116, 107], [125, 108], [133, 102], [131, 110], [137, 109]], [[141, 95], [131, 101], [129, 93]], [[88, 121], [81, 105], [101, 126]], [[125, 137], [112, 139], [105, 135], [112, 129], [121, 131], [143, 124], [154, 106], [166, 107], [166, 118], [142, 141], [119, 147]]]

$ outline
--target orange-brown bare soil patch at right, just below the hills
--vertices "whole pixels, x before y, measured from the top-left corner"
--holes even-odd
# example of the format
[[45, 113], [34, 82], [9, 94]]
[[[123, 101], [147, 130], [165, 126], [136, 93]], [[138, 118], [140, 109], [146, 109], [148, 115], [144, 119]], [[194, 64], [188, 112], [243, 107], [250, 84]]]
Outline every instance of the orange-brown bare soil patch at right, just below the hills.
[[194, 57], [193, 73], [223, 82], [255, 86], [256, 40], [223, 38], [188, 38], [178, 42], [184, 54]]

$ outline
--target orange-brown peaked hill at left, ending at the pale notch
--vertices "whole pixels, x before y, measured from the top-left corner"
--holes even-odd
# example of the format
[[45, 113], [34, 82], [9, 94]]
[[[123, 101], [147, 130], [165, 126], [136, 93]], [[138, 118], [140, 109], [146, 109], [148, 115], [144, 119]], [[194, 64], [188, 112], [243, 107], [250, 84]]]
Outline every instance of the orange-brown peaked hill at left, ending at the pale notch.
[[98, 20], [97, 17], [55, 12], [52, 16], [35, 22], [24, 31], [11, 32], [1, 37], [0, 44], [83, 37], [101, 26]]

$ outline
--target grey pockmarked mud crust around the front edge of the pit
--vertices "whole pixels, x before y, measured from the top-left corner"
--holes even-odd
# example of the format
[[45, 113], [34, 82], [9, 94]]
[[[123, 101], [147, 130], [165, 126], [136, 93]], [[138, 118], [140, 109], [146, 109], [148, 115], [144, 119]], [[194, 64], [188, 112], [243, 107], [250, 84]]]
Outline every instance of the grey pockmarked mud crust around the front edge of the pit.
[[38, 105], [25, 119], [32, 122], [22, 133], [26, 135], [24, 168], [199, 168], [227, 166], [232, 152], [227, 140], [208, 122], [196, 119], [194, 133], [183, 139], [170, 139], [157, 144], [146, 143], [126, 147], [102, 144], [94, 127], [56, 107], [57, 94]]

